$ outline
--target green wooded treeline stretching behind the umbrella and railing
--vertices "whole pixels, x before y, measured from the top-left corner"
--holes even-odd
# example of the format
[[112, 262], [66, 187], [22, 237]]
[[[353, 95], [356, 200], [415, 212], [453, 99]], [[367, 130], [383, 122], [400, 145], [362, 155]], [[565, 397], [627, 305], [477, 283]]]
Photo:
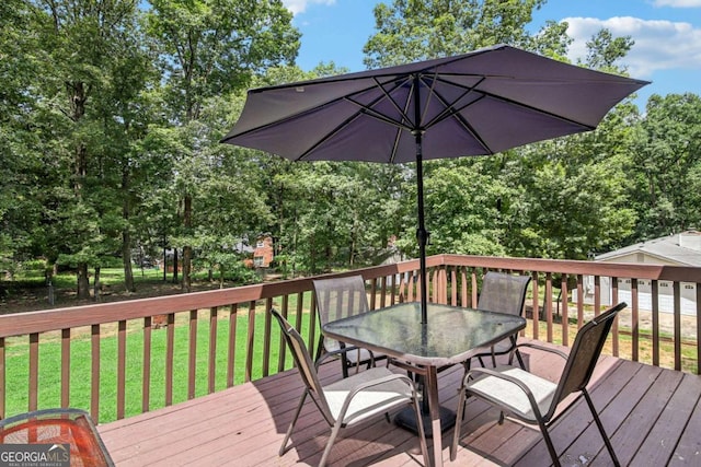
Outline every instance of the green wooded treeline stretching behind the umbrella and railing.
[[[506, 43], [566, 60], [545, 0], [393, 0], [375, 9], [366, 65]], [[220, 144], [249, 87], [335, 74], [295, 66], [303, 37], [280, 0], [5, 0], [0, 4], [0, 270], [89, 277], [133, 252], [181, 252], [223, 277], [269, 232], [286, 273], [416, 255], [413, 166], [292, 164]], [[579, 63], [625, 72], [631, 37], [604, 30]], [[334, 57], [329, 57], [333, 60]], [[428, 254], [585, 259], [701, 226], [701, 100], [619, 104], [589, 133], [425, 164]], [[390, 240], [393, 248], [389, 248]]]

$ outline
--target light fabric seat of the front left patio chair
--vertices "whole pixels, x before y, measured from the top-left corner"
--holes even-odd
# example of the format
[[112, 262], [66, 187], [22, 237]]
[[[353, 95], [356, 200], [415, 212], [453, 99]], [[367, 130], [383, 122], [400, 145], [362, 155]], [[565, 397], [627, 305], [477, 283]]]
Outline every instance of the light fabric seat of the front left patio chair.
[[[338, 419], [343, 402], [348, 394], [355, 390], [359, 385], [393, 375], [395, 375], [395, 373], [392, 373], [384, 366], [371, 367], [324, 386], [324, 396], [326, 397], [329, 409], [331, 410], [334, 419]], [[387, 383], [372, 386], [359, 392], [353, 398], [344, 417], [343, 423], [357, 423], [368, 417], [384, 412], [394, 406], [407, 404], [411, 398], [411, 387], [406, 382], [401, 380], [392, 380]]]

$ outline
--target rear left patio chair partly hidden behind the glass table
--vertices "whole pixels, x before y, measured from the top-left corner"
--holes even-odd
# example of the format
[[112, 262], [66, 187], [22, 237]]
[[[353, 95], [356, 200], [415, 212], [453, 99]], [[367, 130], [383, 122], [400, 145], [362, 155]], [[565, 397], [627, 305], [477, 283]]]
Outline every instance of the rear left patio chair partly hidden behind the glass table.
[[[313, 281], [313, 285], [320, 326], [370, 311], [363, 276], [318, 279]], [[343, 351], [340, 352], [340, 350]], [[376, 354], [368, 349], [346, 346], [344, 342], [338, 342], [321, 335], [317, 347], [315, 360], [325, 358], [327, 354], [341, 358], [343, 377], [348, 377], [348, 369], [355, 367], [358, 370], [364, 364], [369, 369], [375, 366], [376, 360], [386, 357]]]

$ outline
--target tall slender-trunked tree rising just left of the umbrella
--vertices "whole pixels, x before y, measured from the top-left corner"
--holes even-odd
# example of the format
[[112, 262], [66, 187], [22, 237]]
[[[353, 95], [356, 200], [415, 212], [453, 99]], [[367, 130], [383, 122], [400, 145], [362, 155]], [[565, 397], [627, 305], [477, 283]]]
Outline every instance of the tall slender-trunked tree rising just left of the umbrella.
[[[280, 0], [153, 0], [148, 31], [161, 56], [165, 80], [163, 101], [173, 138], [177, 174], [174, 189], [182, 199], [183, 289], [191, 288], [194, 224], [193, 200], [205, 185], [207, 142], [199, 138], [205, 105], [245, 89], [254, 73], [294, 61], [299, 32]], [[205, 163], [205, 166], [200, 166]]]

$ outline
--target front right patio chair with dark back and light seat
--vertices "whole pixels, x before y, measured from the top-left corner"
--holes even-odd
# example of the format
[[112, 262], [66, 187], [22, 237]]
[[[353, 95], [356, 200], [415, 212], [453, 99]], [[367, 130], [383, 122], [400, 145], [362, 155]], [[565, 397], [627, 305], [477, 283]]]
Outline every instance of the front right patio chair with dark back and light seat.
[[[470, 370], [460, 387], [457, 420], [462, 420], [466, 398], [474, 396], [502, 410], [499, 424], [504, 422], [505, 415], [526, 423], [538, 424], [552, 463], [559, 467], [561, 465], [560, 459], [548, 433], [548, 428], [574, 407], [579, 398], [584, 397], [604, 439], [606, 448], [613, 460], [613, 465], [619, 466], [620, 463], [616, 457], [613, 446], [604, 430], [586, 386], [589, 384], [613, 319], [625, 306], [625, 303], [619, 303], [584, 325], [577, 332], [568, 357], [560, 350], [533, 343], [518, 346], [552, 352], [562, 357], [566, 362], [558, 384], [510, 364], [499, 365], [496, 369], [476, 367]], [[510, 361], [512, 359], [509, 359]], [[579, 394], [555, 416], [560, 402], [573, 393]], [[459, 441], [460, 423], [456, 423], [452, 445], [450, 446], [451, 460], [456, 458]]]

